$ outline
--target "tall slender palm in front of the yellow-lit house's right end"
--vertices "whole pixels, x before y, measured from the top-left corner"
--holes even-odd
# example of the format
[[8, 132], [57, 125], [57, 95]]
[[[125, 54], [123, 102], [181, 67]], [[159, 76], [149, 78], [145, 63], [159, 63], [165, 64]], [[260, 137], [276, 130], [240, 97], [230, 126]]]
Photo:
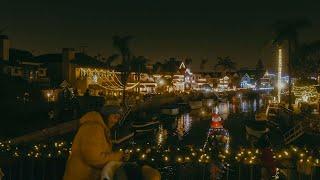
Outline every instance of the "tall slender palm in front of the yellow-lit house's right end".
[[131, 50], [129, 48], [129, 42], [131, 41], [132, 36], [113, 36], [113, 46], [120, 52], [121, 55], [121, 64], [120, 64], [120, 72], [121, 72], [121, 82], [123, 84], [122, 87], [122, 103], [126, 105], [126, 86], [128, 82], [128, 77], [130, 75], [130, 62], [132, 60]]

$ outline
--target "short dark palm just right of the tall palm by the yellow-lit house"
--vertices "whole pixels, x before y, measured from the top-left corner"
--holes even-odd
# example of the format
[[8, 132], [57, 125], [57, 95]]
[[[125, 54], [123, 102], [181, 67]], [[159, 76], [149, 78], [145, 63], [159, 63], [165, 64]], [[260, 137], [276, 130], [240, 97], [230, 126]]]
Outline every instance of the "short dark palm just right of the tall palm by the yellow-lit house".
[[148, 61], [148, 59], [143, 56], [138, 56], [138, 57], [133, 56], [132, 61], [131, 61], [131, 71], [137, 73], [137, 76], [138, 76], [138, 82], [139, 82], [138, 93], [139, 93], [139, 95], [140, 95], [141, 73], [147, 71], [147, 67], [146, 67], [147, 61]]

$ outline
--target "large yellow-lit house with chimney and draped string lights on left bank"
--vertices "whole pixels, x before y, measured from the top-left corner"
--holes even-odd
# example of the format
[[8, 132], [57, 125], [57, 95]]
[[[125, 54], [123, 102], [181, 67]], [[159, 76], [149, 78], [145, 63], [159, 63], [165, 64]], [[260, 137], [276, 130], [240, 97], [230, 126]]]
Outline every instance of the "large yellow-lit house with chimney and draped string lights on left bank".
[[113, 74], [101, 61], [85, 53], [78, 53], [73, 48], [63, 48], [62, 53], [43, 54], [36, 59], [45, 64], [48, 76], [52, 77], [56, 86], [65, 80], [79, 94], [88, 88], [95, 93], [104, 91], [103, 87], [93, 85], [103, 84], [103, 79]]

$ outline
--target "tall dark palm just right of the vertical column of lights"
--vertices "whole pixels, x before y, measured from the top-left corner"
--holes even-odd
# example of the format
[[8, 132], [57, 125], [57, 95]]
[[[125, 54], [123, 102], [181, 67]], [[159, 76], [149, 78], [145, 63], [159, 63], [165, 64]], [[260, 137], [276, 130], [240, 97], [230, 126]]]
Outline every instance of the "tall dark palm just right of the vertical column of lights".
[[289, 75], [289, 109], [292, 109], [291, 98], [291, 76], [292, 61], [296, 57], [298, 48], [298, 30], [310, 26], [311, 23], [305, 19], [299, 20], [281, 20], [273, 24], [274, 38], [272, 44], [281, 46], [285, 41], [288, 42], [288, 75]]

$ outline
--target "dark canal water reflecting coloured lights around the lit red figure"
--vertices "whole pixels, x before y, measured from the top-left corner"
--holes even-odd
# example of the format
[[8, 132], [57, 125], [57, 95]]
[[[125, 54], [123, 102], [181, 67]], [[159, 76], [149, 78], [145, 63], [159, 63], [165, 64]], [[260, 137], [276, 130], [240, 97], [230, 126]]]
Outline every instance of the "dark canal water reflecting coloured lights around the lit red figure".
[[[148, 141], [170, 146], [193, 145], [203, 147], [210, 130], [211, 113], [218, 113], [223, 121], [224, 128], [230, 131], [232, 146], [243, 143], [244, 121], [263, 106], [262, 100], [237, 99], [203, 109], [183, 112], [176, 117], [161, 116], [160, 127], [156, 134], [147, 137]], [[240, 135], [241, 134], [241, 135]], [[234, 137], [232, 137], [234, 136]], [[139, 138], [141, 139], [141, 138]]]

